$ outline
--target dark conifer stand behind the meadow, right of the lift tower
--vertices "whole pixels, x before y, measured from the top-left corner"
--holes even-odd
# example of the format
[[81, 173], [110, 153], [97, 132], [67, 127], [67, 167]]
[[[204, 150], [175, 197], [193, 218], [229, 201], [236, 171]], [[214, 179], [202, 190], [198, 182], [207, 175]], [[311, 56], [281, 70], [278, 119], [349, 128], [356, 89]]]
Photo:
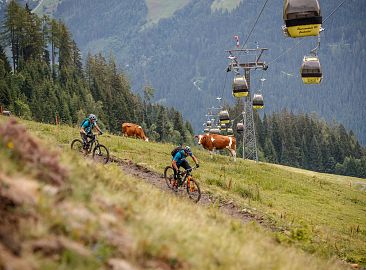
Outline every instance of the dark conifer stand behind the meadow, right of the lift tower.
[[257, 140], [257, 146], [265, 161], [365, 177], [366, 149], [342, 124], [328, 124], [316, 115], [295, 115], [286, 110], [265, 114], [263, 120], [255, 117], [255, 122], [257, 137], [264, 138]]

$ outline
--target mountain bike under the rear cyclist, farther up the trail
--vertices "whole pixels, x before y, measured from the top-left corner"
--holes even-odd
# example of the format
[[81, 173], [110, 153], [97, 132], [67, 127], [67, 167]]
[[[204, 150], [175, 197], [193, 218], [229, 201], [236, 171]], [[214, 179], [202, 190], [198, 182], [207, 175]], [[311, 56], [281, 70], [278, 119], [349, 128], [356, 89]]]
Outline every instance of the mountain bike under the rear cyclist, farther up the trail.
[[[84, 143], [80, 139], [75, 139], [71, 142], [71, 149], [83, 153], [85, 156], [90, 154], [93, 150], [93, 159], [106, 164], [109, 161], [108, 148], [103, 144], [100, 144], [97, 136], [93, 134], [90, 141], [88, 141], [88, 147], [84, 148]], [[95, 144], [95, 145], [94, 145]], [[94, 149], [93, 149], [94, 145]]]

